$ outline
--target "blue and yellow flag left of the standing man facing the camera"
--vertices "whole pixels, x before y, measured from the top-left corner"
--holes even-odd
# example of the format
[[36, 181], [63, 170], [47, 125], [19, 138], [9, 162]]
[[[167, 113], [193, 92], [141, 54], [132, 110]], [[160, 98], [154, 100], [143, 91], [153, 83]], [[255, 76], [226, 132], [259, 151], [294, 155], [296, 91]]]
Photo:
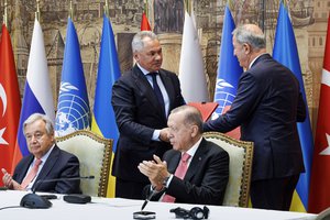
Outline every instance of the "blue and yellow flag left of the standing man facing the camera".
[[[91, 130], [106, 139], [113, 140], [113, 158], [119, 131], [116, 124], [114, 111], [111, 106], [112, 85], [120, 77], [118, 54], [114, 44], [113, 31], [109, 19], [103, 15], [103, 30], [100, 46], [99, 68], [95, 91], [94, 119]], [[110, 170], [112, 168], [112, 163]], [[111, 172], [110, 172], [111, 173]], [[114, 197], [116, 179], [110, 176], [107, 197]]]

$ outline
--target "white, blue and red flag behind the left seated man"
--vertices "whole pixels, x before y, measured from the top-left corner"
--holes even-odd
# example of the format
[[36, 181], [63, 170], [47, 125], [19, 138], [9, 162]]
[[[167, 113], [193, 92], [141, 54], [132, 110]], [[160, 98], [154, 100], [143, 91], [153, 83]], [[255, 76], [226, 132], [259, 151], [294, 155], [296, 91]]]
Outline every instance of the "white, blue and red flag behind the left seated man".
[[28, 64], [23, 106], [20, 117], [16, 147], [21, 155], [15, 155], [13, 164], [22, 156], [29, 154], [26, 141], [23, 134], [23, 123], [33, 113], [43, 113], [55, 120], [52, 87], [45, 54], [42, 28], [37, 20], [34, 21], [30, 57]]

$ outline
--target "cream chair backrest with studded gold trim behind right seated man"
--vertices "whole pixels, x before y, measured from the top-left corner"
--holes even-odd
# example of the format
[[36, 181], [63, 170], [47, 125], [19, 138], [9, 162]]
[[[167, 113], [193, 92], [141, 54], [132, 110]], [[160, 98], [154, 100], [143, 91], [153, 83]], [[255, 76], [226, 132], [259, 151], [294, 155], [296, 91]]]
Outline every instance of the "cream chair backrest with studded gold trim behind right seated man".
[[248, 207], [253, 142], [239, 141], [219, 132], [206, 132], [204, 138], [221, 146], [229, 154], [229, 182], [223, 206]]

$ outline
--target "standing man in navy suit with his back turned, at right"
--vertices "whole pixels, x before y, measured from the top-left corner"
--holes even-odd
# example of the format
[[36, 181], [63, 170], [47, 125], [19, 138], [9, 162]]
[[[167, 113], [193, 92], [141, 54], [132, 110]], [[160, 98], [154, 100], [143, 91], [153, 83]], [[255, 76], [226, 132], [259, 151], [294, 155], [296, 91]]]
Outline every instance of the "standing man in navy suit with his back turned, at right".
[[231, 109], [208, 121], [205, 131], [241, 127], [241, 140], [254, 142], [251, 200], [254, 208], [289, 210], [304, 172], [297, 121], [306, 105], [294, 74], [266, 54], [262, 30], [244, 24], [233, 31], [234, 55], [245, 72]]

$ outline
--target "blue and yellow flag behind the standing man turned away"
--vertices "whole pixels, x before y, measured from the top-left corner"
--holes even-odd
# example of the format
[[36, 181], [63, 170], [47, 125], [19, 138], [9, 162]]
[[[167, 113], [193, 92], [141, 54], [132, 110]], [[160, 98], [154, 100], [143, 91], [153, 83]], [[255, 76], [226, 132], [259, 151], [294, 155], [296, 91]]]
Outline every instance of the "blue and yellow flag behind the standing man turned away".
[[[278, 11], [273, 57], [284, 66], [289, 68], [297, 77], [300, 84], [300, 91], [306, 102], [306, 92], [304, 88], [295, 33], [288, 12], [284, 7], [283, 2], [280, 2]], [[306, 212], [308, 207], [310, 169], [314, 148], [308, 108], [306, 112], [307, 118], [305, 122], [297, 123], [306, 172], [300, 174], [299, 182], [296, 186], [296, 191], [294, 194], [290, 207], [292, 211], [301, 212]]]

